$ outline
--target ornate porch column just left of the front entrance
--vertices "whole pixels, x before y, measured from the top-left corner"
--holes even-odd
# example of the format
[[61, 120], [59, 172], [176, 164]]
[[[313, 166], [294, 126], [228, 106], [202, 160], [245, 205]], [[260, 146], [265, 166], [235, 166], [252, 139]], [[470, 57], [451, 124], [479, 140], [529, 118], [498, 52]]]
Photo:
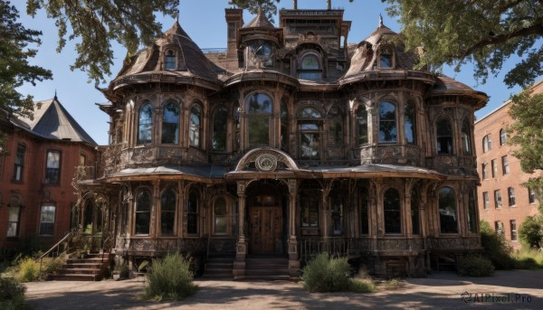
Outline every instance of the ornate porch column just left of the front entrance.
[[245, 182], [237, 183], [238, 194], [238, 240], [235, 247], [235, 261], [233, 262], [233, 277], [245, 276], [245, 256], [247, 243], [245, 241]]

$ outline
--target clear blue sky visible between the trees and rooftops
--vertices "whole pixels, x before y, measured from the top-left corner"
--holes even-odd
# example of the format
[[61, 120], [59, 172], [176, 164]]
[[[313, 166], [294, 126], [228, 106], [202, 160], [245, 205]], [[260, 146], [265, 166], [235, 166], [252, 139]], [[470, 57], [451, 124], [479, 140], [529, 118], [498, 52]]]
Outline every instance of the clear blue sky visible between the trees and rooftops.
[[[94, 88], [93, 83], [88, 83], [85, 72], [70, 70], [70, 65], [75, 60], [74, 43], [68, 42], [61, 53], [55, 52], [58, 37], [54, 21], [47, 19], [44, 12], [39, 12], [34, 18], [25, 14], [25, 1], [13, 1], [19, 9], [21, 22], [26, 28], [40, 30], [43, 33], [42, 45], [38, 47], [37, 56], [31, 61], [34, 65], [52, 70], [53, 80], [46, 80], [32, 86], [24, 85], [19, 90], [23, 94], [33, 95], [34, 100], [52, 99], [57, 92], [58, 99], [99, 145], [108, 143], [109, 118], [100, 111], [95, 103], [104, 103], [107, 100]], [[181, 0], [179, 7], [179, 23], [186, 33], [202, 49], [226, 47], [226, 22], [224, 20], [224, 8], [229, 7], [228, 0]], [[279, 8], [292, 8], [291, 0], [282, 0]], [[352, 21], [351, 30], [348, 35], [349, 43], [357, 43], [364, 40], [372, 33], [377, 25], [379, 14], [383, 15], [385, 25], [399, 33], [401, 26], [386, 14], [386, 5], [381, 0], [355, 0], [349, 3], [348, 0], [332, 0], [333, 8], [345, 10], [344, 19]], [[325, 9], [326, 0], [299, 0], [299, 9]], [[248, 23], [252, 15], [245, 12], [243, 20]], [[161, 14], [157, 16], [166, 31], [173, 23], [171, 17]], [[275, 18], [277, 25], [278, 18]], [[120, 70], [126, 50], [113, 44], [115, 47], [114, 65], [112, 67], [112, 80]], [[472, 66], [462, 66], [461, 72], [454, 72], [452, 68], [443, 68], [443, 73], [455, 80], [472, 87], [473, 89], [486, 92], [491, 99], [485, 108], [476, 112], [476, 117], [486, 116], [493, 109], [509, 99], [510, 94], [518, 92], [519, 87], [508, 89], [503, 83], [503, 76], [515, 64], [518, 59], [511, 59], [506, 62], [505, 70], [500, 72], [498, 77], [489, 77], [486, 84], [478, 84], [473, 79]], [[100, 85], [106, 87], [106, 85]]]

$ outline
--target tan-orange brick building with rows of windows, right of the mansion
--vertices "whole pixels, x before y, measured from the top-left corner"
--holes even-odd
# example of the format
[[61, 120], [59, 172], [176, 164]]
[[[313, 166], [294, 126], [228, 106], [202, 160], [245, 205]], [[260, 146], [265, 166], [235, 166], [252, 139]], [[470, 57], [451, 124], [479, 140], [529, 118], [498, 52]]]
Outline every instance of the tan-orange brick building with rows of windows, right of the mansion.
[[[534, 94], [543, 93], [543, 80], [532, 88]], [[519, 159], [511, 151], [516, 146], [507, 144], [507, 128], [511, 101], [475, 123], [477, 167], [481, 176], [478, 188], [481, 220], [488, 221], [494, 230], [502, 231], [513, 247], [519, 249], [518, 230], [527, 216], [538, 212], [536, 194], [522, 183], [530, 174], [520, 170]]]

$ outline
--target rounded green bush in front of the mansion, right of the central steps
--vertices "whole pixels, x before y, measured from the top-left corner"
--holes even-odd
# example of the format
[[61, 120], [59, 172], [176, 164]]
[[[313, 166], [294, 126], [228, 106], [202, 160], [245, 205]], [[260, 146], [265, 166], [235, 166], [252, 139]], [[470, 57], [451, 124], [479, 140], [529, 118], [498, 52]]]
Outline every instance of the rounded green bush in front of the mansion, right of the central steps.
[[304, 288], [310, 292], [346, 291], [350, 285], [351, 268], [347, 258], [329, 258], [321, 253], [302, 270]]

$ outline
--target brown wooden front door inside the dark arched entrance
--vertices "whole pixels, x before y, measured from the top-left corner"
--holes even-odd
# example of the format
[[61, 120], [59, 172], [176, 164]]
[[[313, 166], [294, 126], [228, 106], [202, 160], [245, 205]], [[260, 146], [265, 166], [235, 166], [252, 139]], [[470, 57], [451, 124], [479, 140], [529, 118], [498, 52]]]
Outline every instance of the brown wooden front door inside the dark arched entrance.
[[[250, 247], [253, 254], [282, 252], [282, 209], [273, 196], [255, 197], [249, 208]], [[258, 203], [263, 202], [263, 203]], [[271, 203], [273, 202], [273, 203]]]

